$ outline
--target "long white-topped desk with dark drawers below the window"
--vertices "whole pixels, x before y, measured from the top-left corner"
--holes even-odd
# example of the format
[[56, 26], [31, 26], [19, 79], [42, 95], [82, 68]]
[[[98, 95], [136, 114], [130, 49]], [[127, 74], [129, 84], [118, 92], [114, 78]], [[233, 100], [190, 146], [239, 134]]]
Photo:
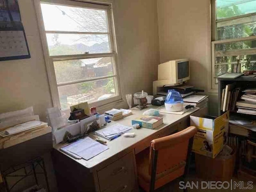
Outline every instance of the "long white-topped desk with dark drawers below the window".
[[[131, 126], [132, 119], [142, 116], [142, 113], [149, 108], [144, 110], [132, 108], [133, 115], [112, 121], [108, 126], [116, 123]], [[130, 132], [136, 133], [134, 138], [120, 136], [107, 141], [109, 149], [88, 161], [76, 160], [61, 152], [59, 149], [64, 146], [63, 144], [55, 145], [52, 158], [59, 191], [137, 191], [135, 155], [148, 148], [151, 140], [187, 128], [190, 124], [190, 115], [204, 115], [207, 112], [208, 106], [199, 110], [193, 109], [183, 115], [162, 114], [164, 124], [161, 126], [154, 130], [133, 129]]]

